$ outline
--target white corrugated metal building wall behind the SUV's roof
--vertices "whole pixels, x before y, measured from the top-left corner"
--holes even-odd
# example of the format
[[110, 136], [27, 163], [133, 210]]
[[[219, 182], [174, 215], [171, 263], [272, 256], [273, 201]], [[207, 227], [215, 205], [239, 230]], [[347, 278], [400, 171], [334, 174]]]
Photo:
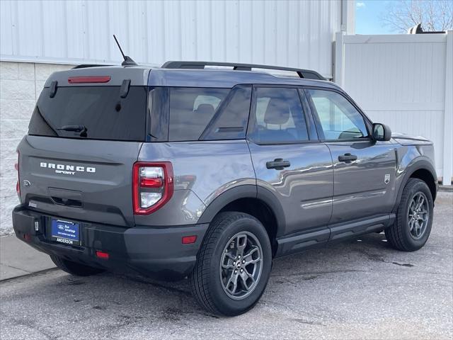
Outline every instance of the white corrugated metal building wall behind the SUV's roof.
[[333, 37], [352, 30], [353, 6], [350, 0], [6, 0], [0, 1], [0, 59], [117, 64], [115, 34], [142, 64], [276, 64], [331, 78]]

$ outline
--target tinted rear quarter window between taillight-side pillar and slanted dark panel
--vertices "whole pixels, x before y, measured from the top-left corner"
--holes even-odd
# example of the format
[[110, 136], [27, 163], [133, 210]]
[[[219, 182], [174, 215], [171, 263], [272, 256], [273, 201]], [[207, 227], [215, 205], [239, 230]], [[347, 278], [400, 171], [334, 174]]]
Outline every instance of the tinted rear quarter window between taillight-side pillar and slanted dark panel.
[[168, 140], [198, 140], [230, 89], [171, 88]]

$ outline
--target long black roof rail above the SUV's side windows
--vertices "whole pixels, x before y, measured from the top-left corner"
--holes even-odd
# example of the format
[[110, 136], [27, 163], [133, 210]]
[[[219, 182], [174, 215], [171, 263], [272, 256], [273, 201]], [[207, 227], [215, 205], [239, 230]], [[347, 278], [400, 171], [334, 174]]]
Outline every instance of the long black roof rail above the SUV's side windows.
[[296, 69], [293, 67], [280, 67], [260, 64], [239, 64], [236, 62], [166, 62], [161, 67], [163, 69], [205, 69], [206, 66], [228, 66], [237, 71], [251, 71], [254, 69], [275, 69], [278, 71], [296, 72], [297, 75], [305, 79], [326, 80], [321, 74], [311, 69]]

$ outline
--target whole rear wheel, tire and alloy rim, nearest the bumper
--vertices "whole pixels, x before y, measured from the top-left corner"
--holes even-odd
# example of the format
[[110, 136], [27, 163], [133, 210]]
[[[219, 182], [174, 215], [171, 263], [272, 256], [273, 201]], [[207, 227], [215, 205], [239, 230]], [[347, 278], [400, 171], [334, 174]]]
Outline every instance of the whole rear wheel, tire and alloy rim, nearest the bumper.
[[234, 316], [256, 305], [271, 267], [272, 251], [263, 225], [243, 212], [222, 212], [208, 229], [189, 282], [202, 307]]

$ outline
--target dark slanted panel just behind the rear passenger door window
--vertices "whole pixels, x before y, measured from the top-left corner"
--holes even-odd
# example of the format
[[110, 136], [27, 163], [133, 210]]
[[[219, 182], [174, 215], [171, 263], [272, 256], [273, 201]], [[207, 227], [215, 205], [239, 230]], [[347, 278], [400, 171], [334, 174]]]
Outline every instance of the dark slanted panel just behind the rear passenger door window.
[[212, 126], [204, 140], [239, 140], [246, 137], [248, 112], [250, 111], [251, 86], [236, 86], [226, 103], [214, 115]]

